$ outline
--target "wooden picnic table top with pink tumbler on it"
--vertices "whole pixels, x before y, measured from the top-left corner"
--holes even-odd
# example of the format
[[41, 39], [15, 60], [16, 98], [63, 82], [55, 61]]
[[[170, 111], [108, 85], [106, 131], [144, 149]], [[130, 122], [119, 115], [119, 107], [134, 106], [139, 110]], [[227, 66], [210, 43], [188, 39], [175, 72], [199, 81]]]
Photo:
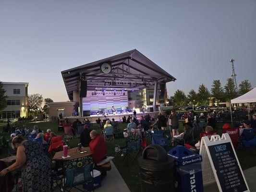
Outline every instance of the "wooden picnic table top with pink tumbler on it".
[[55, 161], [70, 161], [74, 158], [92, 156], [92, 151], [91, 151], [90, 147], [82, 147], [81, 151], [87, 151], [87, 153], [82, 153], [82, 154], [80, 152], [76, 152], [77, 149], [78, 149], [78, 147], [70, 149], [69, 152], [68, 152], [68, 156], [70, 156], [70, 157], [68, 157], [68, 158], [62, 158], [63, 151], [57, 152], [53, 156], [52, 160], [55, 160]]

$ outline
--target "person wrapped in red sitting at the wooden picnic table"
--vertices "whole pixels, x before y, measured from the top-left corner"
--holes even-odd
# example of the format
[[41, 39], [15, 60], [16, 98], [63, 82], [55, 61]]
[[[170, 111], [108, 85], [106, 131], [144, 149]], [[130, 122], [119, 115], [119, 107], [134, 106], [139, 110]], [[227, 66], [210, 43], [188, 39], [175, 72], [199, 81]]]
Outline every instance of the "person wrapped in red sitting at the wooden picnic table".
[[99, 161], [103, 160], [107, 156], [107, 146], [104, 138], [97, 133], [96, 130], [90, 132], [91, 142], [89, 143], [90, 149], [92, 151], [92, 156], [97, 164]]

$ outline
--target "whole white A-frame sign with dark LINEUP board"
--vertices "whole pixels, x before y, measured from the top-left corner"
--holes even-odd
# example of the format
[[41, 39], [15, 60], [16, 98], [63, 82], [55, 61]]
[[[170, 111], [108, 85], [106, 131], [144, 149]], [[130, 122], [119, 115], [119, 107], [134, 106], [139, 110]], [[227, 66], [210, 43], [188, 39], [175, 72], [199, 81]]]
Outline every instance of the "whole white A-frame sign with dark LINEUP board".
[[228, 133], [202, 137], [199, 154], [204, 185], [216, 181], [219, 192], [250, 192]]

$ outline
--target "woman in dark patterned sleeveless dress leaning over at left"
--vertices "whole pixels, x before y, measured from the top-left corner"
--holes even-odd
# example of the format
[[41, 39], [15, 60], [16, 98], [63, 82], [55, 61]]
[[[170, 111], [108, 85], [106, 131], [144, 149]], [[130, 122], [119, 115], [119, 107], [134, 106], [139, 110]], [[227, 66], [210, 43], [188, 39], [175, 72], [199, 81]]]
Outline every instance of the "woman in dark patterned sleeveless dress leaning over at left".
[[3, 169], [0, 176], [21, 168], [23, 192], [50, 192], [50, 159], [39, 145], [18, 135], [12, 139], [12, 148], [17, 149], [16, 161]]

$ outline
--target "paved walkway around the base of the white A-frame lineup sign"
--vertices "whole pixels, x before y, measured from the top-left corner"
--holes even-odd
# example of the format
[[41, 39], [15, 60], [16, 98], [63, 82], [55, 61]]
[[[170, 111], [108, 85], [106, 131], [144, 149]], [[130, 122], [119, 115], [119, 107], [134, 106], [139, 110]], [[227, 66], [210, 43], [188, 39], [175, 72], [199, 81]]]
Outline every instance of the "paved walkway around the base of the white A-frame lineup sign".
[[[250, 192], [256, 192], [256, 167], [248, 168], [244, 170], [244, 177], [249, 186]], [[204, 192], [218, 192], [218, 186], [216, 183], [204, 187]]]

